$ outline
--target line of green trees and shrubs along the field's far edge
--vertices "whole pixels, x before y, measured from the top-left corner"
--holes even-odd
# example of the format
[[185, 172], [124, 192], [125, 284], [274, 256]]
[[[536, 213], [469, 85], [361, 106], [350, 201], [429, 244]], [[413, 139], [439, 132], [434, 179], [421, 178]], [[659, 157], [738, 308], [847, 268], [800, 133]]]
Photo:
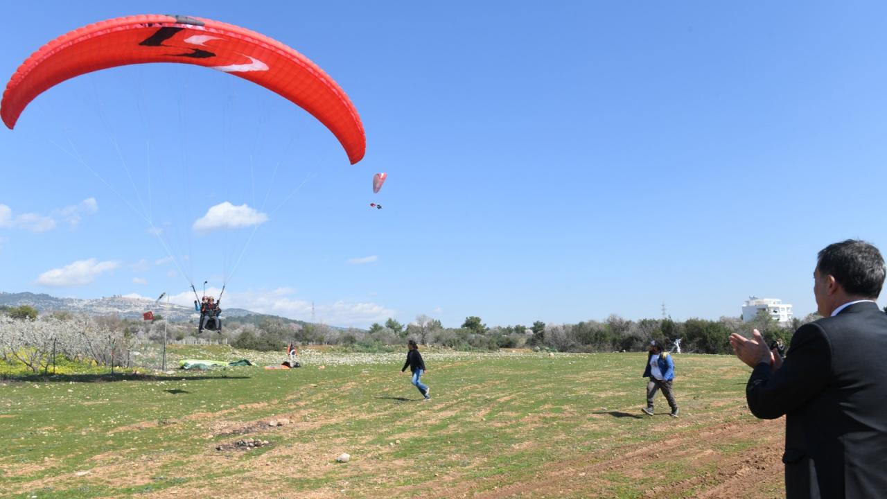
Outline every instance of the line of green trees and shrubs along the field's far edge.
[[[58, 319], [67, 319], [65, 313], [52, 313]], [[0, 307], [0, 315], [16, 320], [33, 321], [37, 311], [30, 306]], [[159, 319], [159, 317], [157, 317]], [[672, 348], [680, 340], [681, 351], [696, 353], [730, 353], [727, 337], [731, 333], [750, 336], [758, 329], [768, 342], [781, 339], [789, 345], [791, 335], [801, 324], [818, 319], [811, 314], [803, 320], [779, 324], [771, 316], [759, 313], [753, 321], [743, 322], [737, 317], [722, 317], [718, 321], [671, 318], [632, 321], [612, 314], [603, 321], [546, 323], [534, 321], [530, 325], [488, 326], [481, 317], [471, 315], [458, 328], [444, 328], [441, 321], [419, 315], [415, 321], [404, 324], [389, 318], [384, 323], [373, 323], [369, 329], [341, 329], [325, 324], [311, 324], [269, 316], [237, 318], [225, 324], [222, 333], [198, 333], [195, 325], [169, 323], [169, 338], [202, 337], [225, 340], [232, 346], [248, 350], [281, 350], [289, 343], [297, 345], [342, 345], [367, 352], [391, 351], [402, 348], [407, 339], [420, 345], [438, 345], [456, 350], [498, 350], [500, 348], [533, 348], [556, 352], [639, 352], [650, 340]], [[142, 321], [116, 322], [130, 335], [146, 336], [161, 341], [163, 329]]]

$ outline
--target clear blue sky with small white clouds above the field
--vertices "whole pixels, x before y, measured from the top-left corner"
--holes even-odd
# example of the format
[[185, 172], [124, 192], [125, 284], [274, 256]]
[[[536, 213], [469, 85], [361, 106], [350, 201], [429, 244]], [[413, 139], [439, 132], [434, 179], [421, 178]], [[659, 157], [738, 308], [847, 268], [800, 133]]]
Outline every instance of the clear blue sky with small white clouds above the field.
[[[310, 320], [314, 302], [318, 321], [357, 327], [640, 319], [663, 303], [675, 319], [717, 319], [750, 295], [803, 316], [819, 249], [850, 237], [887, 249], [885, 11], [5, 5], [4, 79], [55, 36], [122, 15], [259, 31], [348, 92], [367, 153], [349, 165], [310, 115], [205, 68], [61, 83], [0, 131], [0, 290], [184, 303], [190, 281], [216, 295], [227, 282], [228, 306]], [[389, 178], [373, 194], [377, 171]], [[266, 219], [193, 229], [224, 202]]]

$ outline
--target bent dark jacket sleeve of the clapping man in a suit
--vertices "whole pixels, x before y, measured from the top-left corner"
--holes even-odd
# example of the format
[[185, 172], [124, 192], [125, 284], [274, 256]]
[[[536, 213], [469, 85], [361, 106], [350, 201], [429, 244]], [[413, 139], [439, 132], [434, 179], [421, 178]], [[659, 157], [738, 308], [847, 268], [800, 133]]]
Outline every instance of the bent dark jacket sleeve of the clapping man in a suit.
[[831, 349], [816, 323], [805, 324], [791, 338], [789, 356], [776, 371], [768, 362], [757, 364], [745, 387], [751, 413], [776, 419], [800, 408], [828, 385]]

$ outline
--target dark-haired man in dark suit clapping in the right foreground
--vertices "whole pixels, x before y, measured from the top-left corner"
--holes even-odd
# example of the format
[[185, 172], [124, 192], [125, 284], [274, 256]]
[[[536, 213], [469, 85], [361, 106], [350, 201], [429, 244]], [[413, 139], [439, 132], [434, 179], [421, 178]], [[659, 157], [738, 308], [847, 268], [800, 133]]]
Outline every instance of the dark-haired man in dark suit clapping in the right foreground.
[[847, 240], [819, 253], [813, 295], [822, 319], [801, 326], [785, 360], [757, 329], [730, 336], [754, 371], [752, 414], [786, 415], [786, 496], [887, 497], [887, 314], [875, 299], [884, 261], [867, 242]]

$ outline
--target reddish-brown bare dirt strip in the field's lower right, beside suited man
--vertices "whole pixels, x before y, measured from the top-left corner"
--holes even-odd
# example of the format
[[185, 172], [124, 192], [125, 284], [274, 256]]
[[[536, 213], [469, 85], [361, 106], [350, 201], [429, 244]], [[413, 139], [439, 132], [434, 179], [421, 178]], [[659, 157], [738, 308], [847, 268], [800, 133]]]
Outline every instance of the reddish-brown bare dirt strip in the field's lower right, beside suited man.
[[[609, 449], [547, 463], [532, 479], [518, 483], [498, 483], [495, 477], [463, 480], [449, 477], [427, 497], [615, 497], [610, 474], [649, 483], [643, 497], [700, 497], [707, 499], [759, 499], [777, 497], [781, 492], [782, 440], [784, 423], [748, 420], [719, 424], [698, 432], [687, 432], [657, 443]], [[673, 428], [672, 428], [673, 429]], [[749, 440], [755, 445], [740, 450]], [[723, 449], [723, 450], [718, 450]], [[667, 470], [679, 465], [690, 478], [670, 477]], [[748, 487], [749, 476], [765, 480]], [[756, 482], [758, 479], [755, 480]], [[768, 492], [769, 491], [769, 492]]]

